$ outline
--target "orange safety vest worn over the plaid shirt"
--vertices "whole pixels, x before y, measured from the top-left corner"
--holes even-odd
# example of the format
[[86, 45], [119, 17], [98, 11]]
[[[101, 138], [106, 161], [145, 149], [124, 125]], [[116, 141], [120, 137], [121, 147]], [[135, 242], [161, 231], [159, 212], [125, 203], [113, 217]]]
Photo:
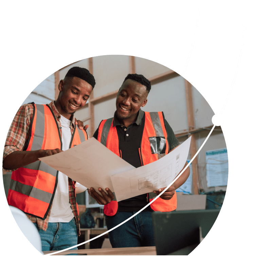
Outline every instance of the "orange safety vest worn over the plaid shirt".
[[[60, 130], [52, 109], [48, 105], [34, 104], [30, 124], [30, 137], [26, 151], [39, 149], [62, 150]], [[88, 139], [84, 130], [74, 127], [69, 148]], [[58, 182], [58, 171], [40, 160], [20, 167], [12, 172], [8, 191], [8, 204], [23, 212], [45, 220]], [[73, 181], [75, 188], [75, 182]], [[78, 210], [78, 207], [77, 207]]]

